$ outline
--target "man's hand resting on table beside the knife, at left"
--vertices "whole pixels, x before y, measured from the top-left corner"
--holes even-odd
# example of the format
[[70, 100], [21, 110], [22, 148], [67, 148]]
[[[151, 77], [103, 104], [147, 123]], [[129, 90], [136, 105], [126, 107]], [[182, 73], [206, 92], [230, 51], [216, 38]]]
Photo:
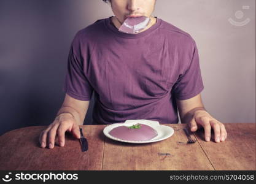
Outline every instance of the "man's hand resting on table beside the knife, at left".
[[65, 144], [65, 132], [72, 132], [77, 139], [80, 138], [79, 126], [71, 113], [61, 113], [48, 128], [41, 132], [39, 142], [42, 148], [54, 148], [55, 137], [58, 138], [58, 144], [63, 147]]

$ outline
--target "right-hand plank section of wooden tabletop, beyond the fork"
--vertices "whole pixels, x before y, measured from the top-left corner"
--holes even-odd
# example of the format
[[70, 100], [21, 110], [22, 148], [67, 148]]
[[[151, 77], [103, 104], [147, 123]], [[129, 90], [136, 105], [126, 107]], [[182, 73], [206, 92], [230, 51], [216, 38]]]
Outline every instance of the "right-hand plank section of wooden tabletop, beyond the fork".
[[225, 123], [228, 137], [225, 142], [203, 140], [203, 131], [196, 137], [215, 170], [255, 171], [255, 123]]

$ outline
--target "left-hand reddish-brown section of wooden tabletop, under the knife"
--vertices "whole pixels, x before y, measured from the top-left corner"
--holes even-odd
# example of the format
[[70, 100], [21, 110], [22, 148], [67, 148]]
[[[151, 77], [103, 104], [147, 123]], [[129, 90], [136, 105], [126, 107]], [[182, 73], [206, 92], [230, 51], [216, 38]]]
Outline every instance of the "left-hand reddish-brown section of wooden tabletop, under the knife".
[[41, 148], [39, 134], [45, 126], [7, 132], [0, 138], [0, 170], [101, 170], [104, 125], [83, 126], [89, 150], [82, 153], [79, 139], [66, 134], [64, 147]]

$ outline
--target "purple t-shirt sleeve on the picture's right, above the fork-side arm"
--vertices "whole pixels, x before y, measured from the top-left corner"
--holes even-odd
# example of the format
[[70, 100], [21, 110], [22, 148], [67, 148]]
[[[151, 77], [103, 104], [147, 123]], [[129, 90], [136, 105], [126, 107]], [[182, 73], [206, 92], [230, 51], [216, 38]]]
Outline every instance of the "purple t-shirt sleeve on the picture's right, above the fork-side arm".
[[198, 48], [193, 42], [193, 55], [184, 74], [180, 74], [177, 82], [173, 86], [173, 93], [176, 99], [190, 99], [201, 93], [204, 89], [200, 71], [200, 59]]

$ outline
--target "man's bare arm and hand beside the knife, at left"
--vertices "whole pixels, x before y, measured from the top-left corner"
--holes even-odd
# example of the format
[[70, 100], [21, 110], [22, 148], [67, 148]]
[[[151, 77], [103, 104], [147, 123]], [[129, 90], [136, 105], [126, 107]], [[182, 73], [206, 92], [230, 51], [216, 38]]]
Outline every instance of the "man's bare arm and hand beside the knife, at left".
[[58, 138], [58, 144], [63, 147], [66, 131], [72, 132], [79, 139], [79, 125], [83, 125], [89, 104], [90, 101], [80, 101], [66, 94], [55, 120], [39, 136], [41, 147], [45, 148], [48, 145], [49, 148], [54, 148], [55, 137]]

